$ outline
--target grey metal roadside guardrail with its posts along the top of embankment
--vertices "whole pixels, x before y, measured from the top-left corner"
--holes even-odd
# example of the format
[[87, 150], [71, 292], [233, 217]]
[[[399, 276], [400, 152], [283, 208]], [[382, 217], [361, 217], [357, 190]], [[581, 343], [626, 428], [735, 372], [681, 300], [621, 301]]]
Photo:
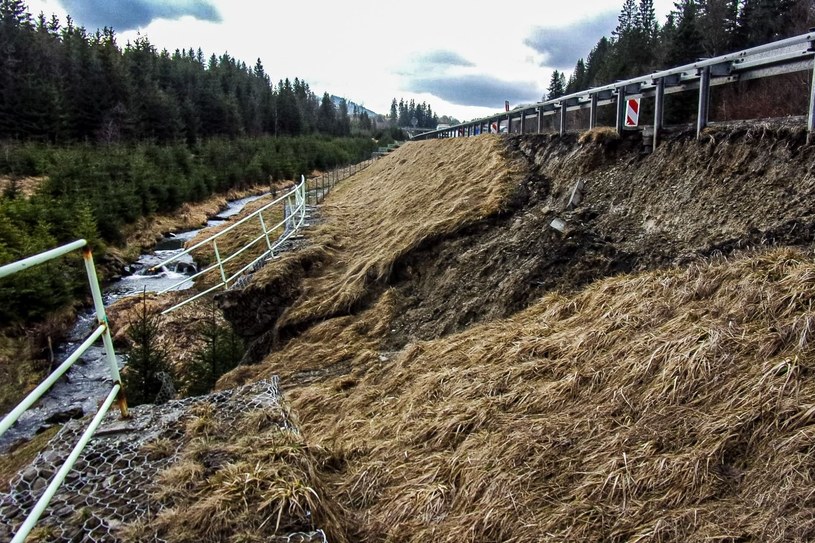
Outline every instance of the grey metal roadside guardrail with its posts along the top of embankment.
[[711, 87], [811, 70], [813, 74], [809, 91], [809, 115], [807, 118], [807, 139], [810, 140], [813, 132], [815, 132], [815, 70], [813, 70], [815, 62], [813, 62], [813, 56], [815, 56], [815, 32], [810, 32], [736, 53], [702, 59], [677, 68], [559, 96], [552, 100], [516, 108], [513, 111], [498, 113], [449, 128], [419, 134], [414, 139], [476, 136], [490, 132], [493, 123], [498, 123], [500, 126], [504, 122], [506, 123], [507, 132], [511, 133], [516, 132], [513, 130], [514, 120], [519, 121], [517, 123], [517, 133], [523, 134], [527, 132], [526, 125], [530, 118], [537, 120], [537, 126], [536, 130], [528, 132], [542, 132], [543, 118], [552, 115], [560, 117], [558, 131], [563, 135], [566, 131], [567, 112], [588, 109], [590, 112], [589, 129], [592, 129], [597, 125], [597, 108], [609, 104], [615, 104], [617, 107], [615, 128], [618, 132], [621, 132], [624, 125], [624, 104], [626, 99], [653, 97], [655, 98], [653, 145], [656, 146], [659, 132], [664, 126], [664, 97], [666, 94], [691, 90], [699, 91], [696, 119], [696, 135], [698, 138], [708, 124]]

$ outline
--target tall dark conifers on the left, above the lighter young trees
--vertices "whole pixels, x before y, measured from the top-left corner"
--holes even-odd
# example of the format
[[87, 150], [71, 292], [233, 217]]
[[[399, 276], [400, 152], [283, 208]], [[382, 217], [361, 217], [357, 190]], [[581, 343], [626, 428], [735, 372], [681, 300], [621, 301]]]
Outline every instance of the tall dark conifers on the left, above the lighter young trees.
[[350, 133], [342, 113], [319, 128], [309, 85], [273, 86], [260, 60], [250, 67], [224, 53], [205, 61], [200, 49], [159, 51], [144, 36], [122, 48], [110, 28], [34, 20], [21, 0], [0, 2], [0, 50], [0, 139], [193, 144]]

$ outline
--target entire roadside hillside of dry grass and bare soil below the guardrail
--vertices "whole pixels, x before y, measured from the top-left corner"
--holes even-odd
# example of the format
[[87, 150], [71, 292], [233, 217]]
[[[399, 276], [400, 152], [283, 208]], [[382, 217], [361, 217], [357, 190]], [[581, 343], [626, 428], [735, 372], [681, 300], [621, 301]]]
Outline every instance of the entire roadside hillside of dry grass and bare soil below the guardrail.
[[813, 197], [797, 126], [409, 143], [218, 296], [251, 344], [220, 394], [286, 404], [176, 409], [148, 513], [106, 529], [813, 540]]

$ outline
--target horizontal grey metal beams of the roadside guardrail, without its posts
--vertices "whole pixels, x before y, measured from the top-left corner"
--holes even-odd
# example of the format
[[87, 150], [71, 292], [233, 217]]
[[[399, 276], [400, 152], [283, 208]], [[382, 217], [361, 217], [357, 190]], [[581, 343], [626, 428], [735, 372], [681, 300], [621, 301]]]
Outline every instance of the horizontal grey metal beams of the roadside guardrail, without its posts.
[[[757, 71], [758, 75], [754, 77], [765, 77], [776, 75], [773, 68], [777, 66], [786, 66], [789, 71], [800, 71], [811, 68], [813, 66], [813, 57], [815, 57], [815, 32], [808, 32], [798, 36], [785, 38], [771, 43], [758, 45], [749, 49], [728, 53], [708, 59], [700, 59], [696, 62], [669, 68], [666, 70], [655, 71], [650, 74], [633, 77], [606, 85], [592, 87], [550, 100], [543, 100], [533, 104], [527, 104], [517, 107], [511, 111], [498, 112], [493, 115], [487, 115], [473, 119], [464, 123], [459, 123], [454, 126], [449, 126], [442, 129], [417, 134], [414, 139], [430, 139], [435, 137], [444, 137], [445, 135], [455, 136], [460, 130], [469, 129], [470, 127], [483, 126], [484, 124], [491, 124], [495, 121], [503, 121], [511, 117], [521, 115], [526, 118], [528, 112], [547, 111], [551, 114], [554, 110], [560, 108], [577, 109], [596, 106], [596, 100], [601, 94], [606, 94], [603, 99], [609, 99], [611, 96], [616, 95], [617, 98], [621, 95], [636, 96], [641, 94], [644, 90], [657, 88], [660, 81], [666, 81], [670, 78], [674, 80], [667, 85], [671, 87], [678, 87], [683, 84], [689, 83], [694, 80], [700, 80], [704, 76], [704, 72], [716, 67], [723, 67], [725, 75], [719, 75], [723, 82], [731, 82], [726, 80], [733, 74], [739, 74], [743, 71]], [[793, 49], [796, 46], [806, 45], [805, 48]], [[767, 53], [776, 53], [775, 55], [767, 55]], [[762, 71], [763, 70], [763, 71]], [[678, 76], [678, 77], [677, 77]], [[710, 77], [710, 76], [708, 76]], [[731, 78], [735, 80], [736, 78]], [[813, 76], [815, 81], [815, 75]], [[639, 87], [639, 92], [628, 92], [627, 89]], [[810, 91], [812, 92], [812, 91]], [[815, 96], [815, 95], [814, 95]], [[592, 102], [589, 104], [589, 102]], [[815, 98], [810, 100], [810, 111], [808, 118], [808, 130], [815, 131]], [[618, 127], [619, 129], [619, 127]], [[508, 127], [511, 131], [511, 127]], [[469, 135], [469, 134], [468, 134]]]

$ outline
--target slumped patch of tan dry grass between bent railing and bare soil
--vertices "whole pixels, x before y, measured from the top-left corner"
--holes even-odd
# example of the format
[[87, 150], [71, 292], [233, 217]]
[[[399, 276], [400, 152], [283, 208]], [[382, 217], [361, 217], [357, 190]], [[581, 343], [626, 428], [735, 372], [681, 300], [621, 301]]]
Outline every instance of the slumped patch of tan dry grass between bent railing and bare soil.
[[[520, 171], [496, 136], [412, 142], [343, 181], [323, 204], [325, 224], [311, 236], [323, 253], [320, 267], [281, 324], [347, 312], [401, 256], [498, 212]], [[255, 280], [278, 273], [267, 266]]]

